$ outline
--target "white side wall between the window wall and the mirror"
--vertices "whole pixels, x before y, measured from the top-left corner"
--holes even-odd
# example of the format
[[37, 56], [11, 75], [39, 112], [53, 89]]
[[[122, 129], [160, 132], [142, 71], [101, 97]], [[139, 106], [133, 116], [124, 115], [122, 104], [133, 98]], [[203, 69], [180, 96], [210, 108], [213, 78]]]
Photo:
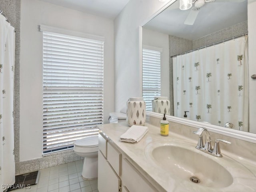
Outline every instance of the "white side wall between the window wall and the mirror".
[[166, 2], [130, 0], [114, 20], [115, 110], [130, 97], [140, 97], [140, 25], [145, 24]]

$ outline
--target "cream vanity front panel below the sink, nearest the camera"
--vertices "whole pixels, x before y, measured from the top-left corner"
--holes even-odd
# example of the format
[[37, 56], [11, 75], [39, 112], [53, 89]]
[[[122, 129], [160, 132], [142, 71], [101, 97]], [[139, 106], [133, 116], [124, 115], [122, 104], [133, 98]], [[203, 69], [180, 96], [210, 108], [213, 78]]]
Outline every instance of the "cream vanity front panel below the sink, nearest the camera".
[[122, 161], [122, 186], [130, 192], [158, 192], [126, 158]]

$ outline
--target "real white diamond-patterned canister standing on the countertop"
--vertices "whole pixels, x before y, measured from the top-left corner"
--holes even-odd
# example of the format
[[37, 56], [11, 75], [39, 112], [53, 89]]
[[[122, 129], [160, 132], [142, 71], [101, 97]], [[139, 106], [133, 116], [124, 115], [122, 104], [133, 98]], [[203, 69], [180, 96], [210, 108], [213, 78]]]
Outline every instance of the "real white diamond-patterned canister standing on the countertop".
[[143, 98], [132, 97], [127, 102], [126, 121], [129, 126], [142, 125], [146, 122], [146, 103]]

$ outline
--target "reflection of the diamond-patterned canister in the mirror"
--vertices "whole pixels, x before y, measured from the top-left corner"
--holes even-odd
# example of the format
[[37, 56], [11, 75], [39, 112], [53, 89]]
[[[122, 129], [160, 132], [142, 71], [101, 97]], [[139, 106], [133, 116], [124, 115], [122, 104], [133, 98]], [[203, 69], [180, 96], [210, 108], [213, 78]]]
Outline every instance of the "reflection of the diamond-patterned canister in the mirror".
[[167, 97], [154, 97], [152, 101], [152, 112], [170, 115], [170, 101]]

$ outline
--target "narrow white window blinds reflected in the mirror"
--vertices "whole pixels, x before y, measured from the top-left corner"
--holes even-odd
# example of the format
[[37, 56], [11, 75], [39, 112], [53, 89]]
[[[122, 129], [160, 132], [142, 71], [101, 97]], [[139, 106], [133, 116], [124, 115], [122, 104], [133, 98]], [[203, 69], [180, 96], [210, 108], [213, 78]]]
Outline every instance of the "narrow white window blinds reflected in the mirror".
[[147, 111], [152, 111], [154, 96], [161, 95], [160, 65], [160, 51], [142, 49], [142, 96]]

